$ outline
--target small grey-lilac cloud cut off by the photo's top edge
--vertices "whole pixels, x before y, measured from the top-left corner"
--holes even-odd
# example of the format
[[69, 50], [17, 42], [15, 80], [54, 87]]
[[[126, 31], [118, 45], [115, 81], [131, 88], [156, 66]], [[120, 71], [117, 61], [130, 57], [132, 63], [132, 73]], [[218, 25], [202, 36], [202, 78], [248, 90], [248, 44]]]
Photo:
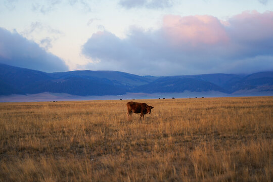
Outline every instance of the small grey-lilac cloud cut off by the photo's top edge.
[[120, 0], [119, 4], [127, 9], [131, 8], [167, 8], [171, 7], [173, 4], [172, 0]]

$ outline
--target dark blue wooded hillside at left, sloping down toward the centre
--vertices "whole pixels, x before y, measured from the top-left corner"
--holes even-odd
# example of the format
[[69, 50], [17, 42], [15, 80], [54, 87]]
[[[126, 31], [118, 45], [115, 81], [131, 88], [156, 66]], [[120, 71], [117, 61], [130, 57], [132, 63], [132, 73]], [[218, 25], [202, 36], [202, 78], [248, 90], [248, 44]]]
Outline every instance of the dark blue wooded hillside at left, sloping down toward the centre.
[[[45, 73], [25, 68], [0, 65], [0, 94], [37, 94], [43, 92], [72, 95], [119, 95], [126, 93], [124, 86], [115, 85], [106, 78], [73, 74]], [[78, 74], [80, 75], [80, 74]]]

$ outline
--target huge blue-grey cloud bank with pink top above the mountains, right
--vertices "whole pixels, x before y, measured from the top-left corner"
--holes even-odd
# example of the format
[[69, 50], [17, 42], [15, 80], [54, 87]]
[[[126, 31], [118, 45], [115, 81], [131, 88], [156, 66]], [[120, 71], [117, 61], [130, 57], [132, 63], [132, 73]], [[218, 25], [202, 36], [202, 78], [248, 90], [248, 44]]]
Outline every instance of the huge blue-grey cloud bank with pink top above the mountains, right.
[[213, 16], [168, 15], [158, 30], [132, 28], [126, 38], [93, 34], [82, 54], [88, 69], [141, 75], [253, 73], [273, 70], [273, 12]]

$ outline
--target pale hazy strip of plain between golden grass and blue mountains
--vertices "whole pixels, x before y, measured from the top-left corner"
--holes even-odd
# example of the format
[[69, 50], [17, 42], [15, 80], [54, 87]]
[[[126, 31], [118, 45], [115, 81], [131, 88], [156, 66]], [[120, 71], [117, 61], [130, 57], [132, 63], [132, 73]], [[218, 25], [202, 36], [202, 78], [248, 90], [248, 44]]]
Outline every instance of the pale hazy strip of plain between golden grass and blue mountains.
[[[254, 90], [255, 91], [255, 90]], [[189, 92], [184, 93], [126, 93], [118, 96], [74, 96], [62, 93], [39, 93], [28, 95], [0, 96], [0, 102], [47, 102], [47, 101], [89, 101], [89, 100], [130, 100], [130, 99], [170, 99], [170, 98], [215, 98], [215, 97], [251, 97], [273, 96], [272, 92], [240, 92], [225, 94], [220, 92]]]

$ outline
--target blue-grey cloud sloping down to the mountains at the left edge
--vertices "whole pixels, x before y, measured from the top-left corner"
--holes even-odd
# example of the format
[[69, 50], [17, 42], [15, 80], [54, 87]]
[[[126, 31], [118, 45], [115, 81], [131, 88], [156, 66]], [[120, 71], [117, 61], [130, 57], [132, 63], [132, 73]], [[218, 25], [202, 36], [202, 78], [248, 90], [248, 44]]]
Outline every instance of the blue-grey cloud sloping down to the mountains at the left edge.
[[[49, 43], [47, 41], [50, 40], [44, 40], [43, 43]], [[45, 72], [68, 70], [59, 57], [46, 52], [16, 31], [10, 32], [4, 28], [0, 28], [0, 63]]]

